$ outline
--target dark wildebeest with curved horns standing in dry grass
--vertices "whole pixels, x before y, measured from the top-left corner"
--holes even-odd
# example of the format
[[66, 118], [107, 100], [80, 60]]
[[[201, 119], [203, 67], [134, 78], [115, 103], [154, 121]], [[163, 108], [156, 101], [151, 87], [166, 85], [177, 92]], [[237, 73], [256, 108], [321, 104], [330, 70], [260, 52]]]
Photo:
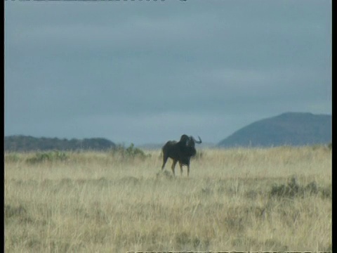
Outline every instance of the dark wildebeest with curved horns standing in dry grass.
[[[198, 136], [199, 137], [199, 136]], [[163, 165], [161, 166], [161, 170], [164, 169], [166, 161], [169, 157], [173, 160], [171, 169], [173, 175], [176, 175], [174, 172], [174, 168], [176, 167], [176, 163], [179, 162], [180, 166], [180, 174], [183, 174], [183, 165], [187, 166], [187, 176], [190, 174], [190, 159], [197, 153], [194, 145], [195, 143], [201, 143], [201, 138], [199, 137], [199, 141], [195, 140], [193, 136], [187, 136], [183, 134], [180, 137], [180, 141], [168, 141], [161, 148], [163, 152]]]

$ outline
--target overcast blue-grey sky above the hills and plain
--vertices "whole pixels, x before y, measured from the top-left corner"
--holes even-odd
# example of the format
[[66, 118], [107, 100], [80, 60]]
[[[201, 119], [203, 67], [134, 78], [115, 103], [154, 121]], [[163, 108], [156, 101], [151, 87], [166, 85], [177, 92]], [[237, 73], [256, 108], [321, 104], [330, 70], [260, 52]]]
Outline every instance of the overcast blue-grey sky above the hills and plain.
[[5, 136], [218, 143], [331, 114], [331, 0], [5, 1]]

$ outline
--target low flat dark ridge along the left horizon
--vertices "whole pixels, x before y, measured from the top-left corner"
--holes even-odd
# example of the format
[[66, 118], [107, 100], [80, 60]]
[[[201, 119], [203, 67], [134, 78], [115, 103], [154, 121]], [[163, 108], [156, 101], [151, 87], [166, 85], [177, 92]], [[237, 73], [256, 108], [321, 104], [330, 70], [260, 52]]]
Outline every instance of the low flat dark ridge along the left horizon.
[[7, 152], [34, 150], [108, 150], [116, 144], [105, 138], [36, 138], [32, 136], [5, 136], [4, 149]]

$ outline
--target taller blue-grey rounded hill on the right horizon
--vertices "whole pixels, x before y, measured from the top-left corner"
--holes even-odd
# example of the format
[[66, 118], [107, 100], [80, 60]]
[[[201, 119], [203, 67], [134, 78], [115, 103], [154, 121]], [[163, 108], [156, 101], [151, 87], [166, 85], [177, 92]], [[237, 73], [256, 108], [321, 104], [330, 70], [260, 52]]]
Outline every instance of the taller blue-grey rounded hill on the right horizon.
[[268, 147], [277, 145], [312, 145], [331, 143], [331, 115], [286, 112], [262, 119], [234, 132], [218, 147]]

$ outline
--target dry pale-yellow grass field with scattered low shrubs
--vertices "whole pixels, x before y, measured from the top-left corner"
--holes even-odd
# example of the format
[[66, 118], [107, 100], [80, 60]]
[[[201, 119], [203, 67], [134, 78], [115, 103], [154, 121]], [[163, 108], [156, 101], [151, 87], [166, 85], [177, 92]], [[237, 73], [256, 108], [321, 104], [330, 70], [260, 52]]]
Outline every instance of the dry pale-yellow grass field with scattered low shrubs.
[[6, 252], [331, 251], [331, 149], [5, 154]]

